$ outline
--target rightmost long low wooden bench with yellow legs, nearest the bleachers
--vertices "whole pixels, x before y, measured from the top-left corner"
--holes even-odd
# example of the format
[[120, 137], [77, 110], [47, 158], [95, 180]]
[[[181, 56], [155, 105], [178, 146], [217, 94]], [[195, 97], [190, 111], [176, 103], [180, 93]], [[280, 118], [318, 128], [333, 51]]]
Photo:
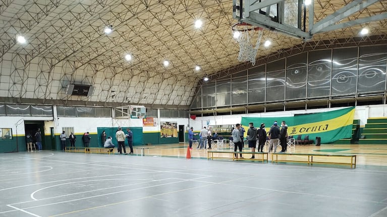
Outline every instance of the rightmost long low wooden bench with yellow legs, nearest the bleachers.
[[[305, 158], [305, 160], [302, 160], [302, 159], [278, 159], [279, 156], [302, 156], [302, 157], [308, 157], [308, 158]], [[275, 157], [275, 159], [274, 159]], [[313, 157], [315, 157], [315, 159], [317, 158], [318, 160], [317, 161], [313, 161]], [[337, 158], [350, 158], [351, 159], [351, 162], [329, 162], [329, 161], [323, 161], [322, 159], [325, 159], [325, 158], [334, 158], [334, 159], [337, 159]], [[349, 165], [351, 166], [351, 169], [352, 168], [356, 168], [356, 155], [335, 155], [335, 154], [297, 154], [297, 153], [273, 153], [272, 154], [272, 163], [276, 162], [297, 162], [297, 163], [307, 163], [307, 164], [310, 164], [310, 165], [313, 165], [313, 164], [337, 164], [337, 165]]]

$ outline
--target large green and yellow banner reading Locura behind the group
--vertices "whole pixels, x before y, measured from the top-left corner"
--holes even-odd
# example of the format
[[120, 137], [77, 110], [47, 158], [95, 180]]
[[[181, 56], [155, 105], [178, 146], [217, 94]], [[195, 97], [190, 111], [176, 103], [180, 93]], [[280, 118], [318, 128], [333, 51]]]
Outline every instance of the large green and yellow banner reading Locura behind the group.
[[[265, 123], [266, 131], [274, 121], [281, 127], [281, 121], [286, 121], [288, 134], [297, 139], [298, 135], [309, 135], [314, 140], [316, 136], [321, 137], [321, 143], [330, 143], [341, 138], [352, 137], [352, 123], [355, 107], [339, 109], [336, 111], [320, 112], [313, 114], [295, 115], [292, 117], [242, 117], [241, 124], [246, 132], [250, 122], [255, 127]], [[246, 134], [245, 134], [246, 136]]]

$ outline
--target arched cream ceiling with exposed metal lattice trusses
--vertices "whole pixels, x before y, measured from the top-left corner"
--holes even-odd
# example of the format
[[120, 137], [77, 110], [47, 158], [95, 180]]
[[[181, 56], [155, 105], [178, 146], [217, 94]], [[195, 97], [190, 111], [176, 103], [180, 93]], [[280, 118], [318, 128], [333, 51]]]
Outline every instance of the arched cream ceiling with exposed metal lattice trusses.
[[[348, 0], [314, 1], [314, 20]], [[341, 22], [382, 14], [379, 1]], [[200, 19], [203, 26], [194, 27]], [[230, 27], [232, 1], [0, 1], [0, 96], [146, 105], [190, 105], [200, 78], [240, 64]], [[113, 32], [105, 34], [106, 26]], [[314, 35], [313, 41], [387, 34], [386, 20]], [[19, 44], [17, 35], [27, 43]], [[257, 58], [303, 43], [264, 30]], [[126, 54], [132, 60], [125, 60]], [[162, 62], [171, 64], [164, 67]], [[196, 71], [195, 65], [201, 70]], [[67, 84], [95, 87], [92, 97], [65, 94]]]

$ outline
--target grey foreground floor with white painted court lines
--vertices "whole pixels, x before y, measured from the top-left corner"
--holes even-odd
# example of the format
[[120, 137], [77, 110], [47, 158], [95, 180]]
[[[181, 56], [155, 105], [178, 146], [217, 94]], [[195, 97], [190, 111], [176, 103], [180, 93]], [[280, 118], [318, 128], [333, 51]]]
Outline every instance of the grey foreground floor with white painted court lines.
[[0, 154], [1, 216], [387, 216], [387, 167]]

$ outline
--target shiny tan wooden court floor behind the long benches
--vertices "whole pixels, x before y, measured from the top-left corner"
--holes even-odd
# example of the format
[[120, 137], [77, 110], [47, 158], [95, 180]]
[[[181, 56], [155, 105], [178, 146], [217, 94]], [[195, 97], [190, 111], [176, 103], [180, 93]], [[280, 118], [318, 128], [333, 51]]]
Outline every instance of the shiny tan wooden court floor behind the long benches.
[[[178, 143], [146, 147], [149, 148], [150, 156], [185, 158], [187, 153], [187, 145], [187, 143]], [[230, 144], [225, 144], [223, 148], [214, 148], [212, 150], [234, 151], [233, 147], [230, 149]], [[266, 150], [267, 146], [264, 148], [264, 151]], [[280, 147], [277, 148], [277, 151], [280, 150]], [[247, 146], [244, 147], [243, 151], [251, 152], [250, 148], [247, 148]], [[383, 144], [321, 144], [321, 146], [292, 146], [291, 148], [288, 147], [288, 153], [356, 155], [356, 165], [387, 166], [387, 145]], [[230, 154], [219, 153], [218, 157], [222, 157], [222, 155], [228, 158]], [[191, 150], [191, 156], [192, 158], [206, 159], [207, 150], [198, 150], [196, 149], [196, 146], [193, 146], [193, 149]], [[299, 158], [302, 158], [302, 156], [299, 156]], [[272, 160], [271, 155], [269, 155], [268, 160]], [[335, 161], [337, 161], [337, 159], [335, 159]]]

